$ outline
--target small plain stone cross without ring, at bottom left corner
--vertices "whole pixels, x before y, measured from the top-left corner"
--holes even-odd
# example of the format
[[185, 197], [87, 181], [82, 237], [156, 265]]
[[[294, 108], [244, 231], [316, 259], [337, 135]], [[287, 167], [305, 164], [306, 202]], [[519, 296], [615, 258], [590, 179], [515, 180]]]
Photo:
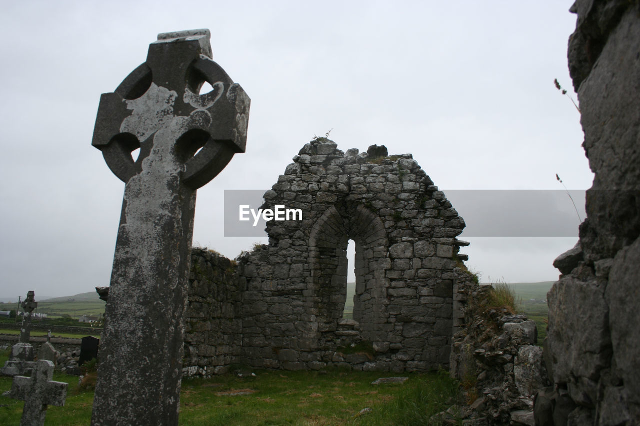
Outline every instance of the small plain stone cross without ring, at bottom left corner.
[[67, 398], [67, 383], [52, 381], [53, 363], [39, 359], [31, 377], [13, 377], [8, 397], [24, 401], [20, 426], [44, 425], [47, 406], [61, 407]]

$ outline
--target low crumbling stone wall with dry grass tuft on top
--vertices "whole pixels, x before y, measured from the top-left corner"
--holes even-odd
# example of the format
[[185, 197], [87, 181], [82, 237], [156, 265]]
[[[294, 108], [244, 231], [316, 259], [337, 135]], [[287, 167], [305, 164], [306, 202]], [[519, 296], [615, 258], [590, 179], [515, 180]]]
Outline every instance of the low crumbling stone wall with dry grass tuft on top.
[[454, 411], [465, 425], [533, 425], [533, 397], [548, 386], [536, 323], [492, 306], [491, 286], [478, 285], [463, 269], [456, 273], [463, 325], [453, 336], [449, 371], [469, 404]]

